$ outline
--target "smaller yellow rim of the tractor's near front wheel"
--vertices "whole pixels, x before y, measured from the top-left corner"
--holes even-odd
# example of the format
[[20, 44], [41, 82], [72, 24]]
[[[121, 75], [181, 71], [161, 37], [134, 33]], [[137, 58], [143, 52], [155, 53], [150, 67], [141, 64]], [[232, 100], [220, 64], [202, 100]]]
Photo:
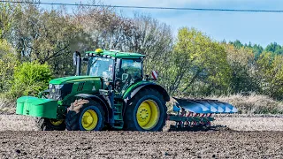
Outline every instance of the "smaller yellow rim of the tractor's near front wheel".
[[95, 110], [87, 110], [81, 117], [81, 125], [85, 130], [91, 131], [96, 128], [98, 117]]

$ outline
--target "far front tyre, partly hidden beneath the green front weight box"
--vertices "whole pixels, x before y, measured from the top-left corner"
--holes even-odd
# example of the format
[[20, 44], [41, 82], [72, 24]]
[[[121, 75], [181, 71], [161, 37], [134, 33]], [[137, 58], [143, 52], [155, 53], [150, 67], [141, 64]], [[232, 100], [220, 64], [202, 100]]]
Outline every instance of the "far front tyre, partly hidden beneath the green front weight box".
[[64, 131], [65, 122], [63, 121], [60, 125], [53, 125], [51, 120], [56, 121], [56, 119], [35, 117], [36, 126], [41, 131]]

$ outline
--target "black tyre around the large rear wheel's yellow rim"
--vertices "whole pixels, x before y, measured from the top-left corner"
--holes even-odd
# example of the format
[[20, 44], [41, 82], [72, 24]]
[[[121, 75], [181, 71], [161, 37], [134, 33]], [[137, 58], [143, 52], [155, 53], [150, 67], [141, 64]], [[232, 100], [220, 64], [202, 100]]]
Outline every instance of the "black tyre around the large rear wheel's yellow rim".
[[[137, 122], [136, 113], [142, 102], [152, 100], [157, 103], [159, 109], [159, 118], [157, 124], [148, 129], [143, 129]], [[138, 92], [132, 99], [127, 102], [126, 111], [124, 115], [124, 129], [127, 131], [162, 131], [166, 122], [167, 107], [164, 102], [163, 95], [155, 89], [145, 88]]]

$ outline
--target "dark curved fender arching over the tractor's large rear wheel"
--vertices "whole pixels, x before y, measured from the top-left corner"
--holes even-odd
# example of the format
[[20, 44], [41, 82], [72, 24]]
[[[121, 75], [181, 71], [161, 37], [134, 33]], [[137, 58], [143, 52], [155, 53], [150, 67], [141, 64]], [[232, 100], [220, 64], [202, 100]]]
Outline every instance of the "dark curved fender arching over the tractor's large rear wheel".
[[161, 95], [163, 95], [165, 102], [170, 101], [170, 96], [168, 95], [167, 91], [164, 89], [164, 87], [161, 87], [160, 85], [157, 85], [154, 82], [151, 81], [139, 81], [132, 85], [131, 87], [127, 88], [125, 94], [123, 95], [124, 100], [130, 100], [134, 97], [135, 94], [137, 94], [142, 88], [152, 88], [156, 89]]

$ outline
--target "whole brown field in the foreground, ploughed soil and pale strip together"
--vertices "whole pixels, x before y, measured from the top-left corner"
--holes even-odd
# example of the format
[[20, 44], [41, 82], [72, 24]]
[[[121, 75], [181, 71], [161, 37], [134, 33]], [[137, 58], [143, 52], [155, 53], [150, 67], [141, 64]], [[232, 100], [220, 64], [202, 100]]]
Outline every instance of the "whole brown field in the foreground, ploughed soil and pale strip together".
[[[266, 123], [267, 122], [267, 123]], [[42, 132], [0, 116], [0, 158], [281, 158], [282, 117], [217, 117], [200, 132]]]

